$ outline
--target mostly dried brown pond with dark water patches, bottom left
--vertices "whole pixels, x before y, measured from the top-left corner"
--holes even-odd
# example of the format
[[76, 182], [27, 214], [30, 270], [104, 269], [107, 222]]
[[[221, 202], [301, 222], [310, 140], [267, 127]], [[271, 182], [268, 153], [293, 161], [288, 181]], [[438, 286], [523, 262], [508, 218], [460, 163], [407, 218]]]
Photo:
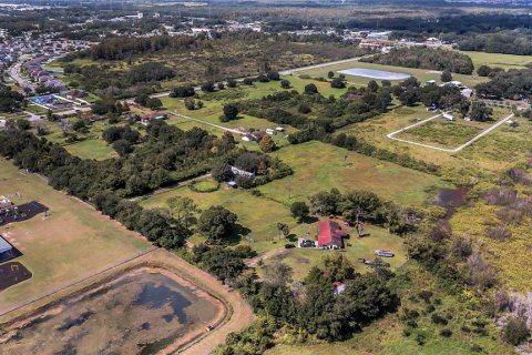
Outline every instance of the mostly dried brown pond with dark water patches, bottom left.
[[0, 344], [0, 353], [154, 354], [214, 325], [219, 306], [170, 276], [139, 271], [63, 301]]

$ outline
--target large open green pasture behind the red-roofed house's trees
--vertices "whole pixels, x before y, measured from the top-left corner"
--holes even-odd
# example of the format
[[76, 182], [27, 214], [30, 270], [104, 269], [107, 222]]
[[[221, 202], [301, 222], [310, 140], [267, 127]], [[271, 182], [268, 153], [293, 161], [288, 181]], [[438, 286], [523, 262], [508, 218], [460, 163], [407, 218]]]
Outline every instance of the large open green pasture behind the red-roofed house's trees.
[[437, 176], [321, 142], [288, 145], [273, 155], [290, 165], [294, 174], [258, 190], [286, 205], [332, 187], [368, 190], [402, 205], [421, 205], [432, 197], [426, 191], [446, 185]]

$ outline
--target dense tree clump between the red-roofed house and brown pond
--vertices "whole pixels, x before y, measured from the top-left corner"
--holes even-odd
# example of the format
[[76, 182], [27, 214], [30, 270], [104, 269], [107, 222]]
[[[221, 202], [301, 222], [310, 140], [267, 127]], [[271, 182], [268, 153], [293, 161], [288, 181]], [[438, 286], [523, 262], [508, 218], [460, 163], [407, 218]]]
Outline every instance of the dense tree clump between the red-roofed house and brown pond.
[[[195, 260], [207, 266], [203, 255], [207, 254], [211, 261], [212, 253], [212, 248], [200, 246], [194, 251]], [[311, 334], [328, 342], [345, 341], [399, 305], [397, 295], [387, 285], [391, 273], [387, 277], [378, 272], [357, 274], [341, 255], [326, 257], [323, 267], [311, 267], [303, 282], [304, 296], [298, 297], [289, 287], [293, 274], [289, 266], [279, 263], [269, 266], [267, 280], [257, 283], [253, 274], [241, 271], [243, 264], [236, 263], [235, 251], [226, 251], [224, 257], [219, 251], [215, 253], [216, 260], [232, 255], [232, 263], [239, 271], [232, 284], [247, 295], [259, 315], [256, 325], [228, 336], [215, 354], [239, 354], [243, 349], [246, 354], [262, 354], [273, 346], [273, 334], [282, 327], [303, 337]], [[216, 262], [221, 263], [228, 265]], [[336, 288], [338, 284], [344, 285], [342, 291]]]

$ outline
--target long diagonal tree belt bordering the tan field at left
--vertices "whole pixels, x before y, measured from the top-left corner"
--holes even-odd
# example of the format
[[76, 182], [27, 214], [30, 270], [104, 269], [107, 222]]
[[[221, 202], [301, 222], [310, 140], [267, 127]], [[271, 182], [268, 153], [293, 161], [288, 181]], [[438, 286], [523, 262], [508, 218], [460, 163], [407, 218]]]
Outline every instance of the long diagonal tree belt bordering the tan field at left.
[[[121, 183], [120, 161], [84, 161], [63, 148], [29, 132], [9, 129], [0, 132], [0, 154], [30, 172], [43, 174], [57, 190], [91, 201], [104, 214], [127, 229], [137, 231], [151, 242], [167, 248], [181, 246], [190, 231], [167, 214], [143, 210], [139, 204], [115, 194]], [[150, 174], [157, 179], [158, 172]], [[124, 182], [122, 182], [124, 183]], [[125, 182], [127, 184], [129, 182]]]

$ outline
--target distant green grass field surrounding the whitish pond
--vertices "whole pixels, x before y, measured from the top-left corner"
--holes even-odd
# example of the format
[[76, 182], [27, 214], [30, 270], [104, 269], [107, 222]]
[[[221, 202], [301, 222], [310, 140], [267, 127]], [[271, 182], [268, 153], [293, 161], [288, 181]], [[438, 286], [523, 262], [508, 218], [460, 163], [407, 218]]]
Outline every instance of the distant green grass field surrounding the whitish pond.
[[[440, 73], [432, 70], [364, 63], [358, 60], [352, 60], [350, 62], [346, 62], [341, 64], [304, 70], [304, 71], [297, 72], [296, 75], [307, 74], [313, 78], [317, 78], [317, 77], [327, 78], [327, 73], [329, 71], [338, 72], [340, 70], [352, 69], [352, 68], [375, 69], [375, 70], [382, 70], [382, 71], [407, 73], [416, 77], [421, 83], [424, 83], [428, 80], [436, 80], [440, 82]], [[480, 78], [475, 75], [452, 74], [452, 77], [453, 77], [453, 80], [461, 81], [464, 85], [468, 85], [468, 87], [474, 87], [480, 82], [488, 81], [487, 78]], [[367, 85], [368, 82], [372, 80], [370, 78], [354, 77], [354, 75], [346, 75], [346, 79], [348, 80], [349, 83], [356, 84], [356, 85]], [[399, 81], [402, 81], [402, 80], [399, 80]], [[396, 80], [396, 81], [392, 81], [392, 83], [393, 82], [397, 83], [399, 81]], [[377, 80], [377, 82], [380, 82], [380, 80]]]

